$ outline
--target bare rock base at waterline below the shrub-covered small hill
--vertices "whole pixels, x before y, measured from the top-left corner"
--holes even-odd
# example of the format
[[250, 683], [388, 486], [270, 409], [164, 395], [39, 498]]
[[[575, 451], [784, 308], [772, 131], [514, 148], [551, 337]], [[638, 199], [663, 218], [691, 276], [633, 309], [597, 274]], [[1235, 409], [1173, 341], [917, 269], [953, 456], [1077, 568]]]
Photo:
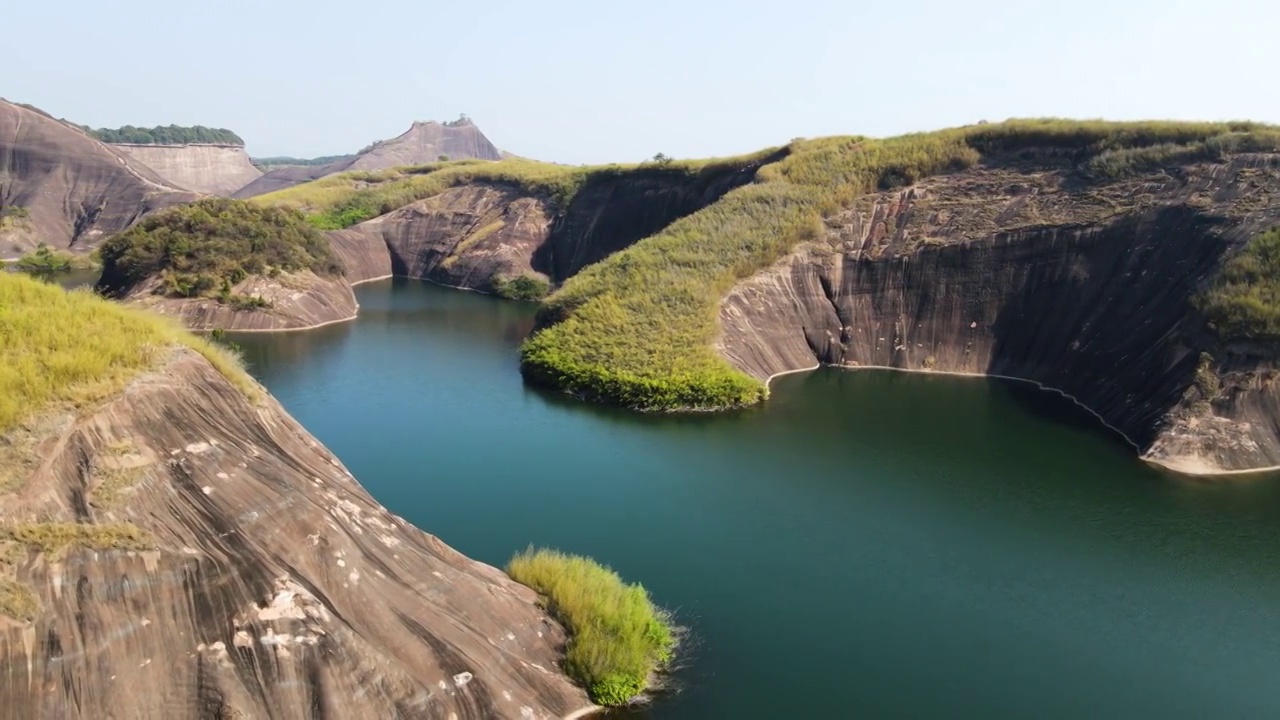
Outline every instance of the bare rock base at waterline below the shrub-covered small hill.
[[[301, 331], [352, 320], [360, 305], [340, 275], [310, 270], [275, 278], [251, 275], [232, 288], [239, 299], [259, 299], [262, 306], [219, 302], [209, 297], [159, 295], [159, 281], [141, 283], [123, 300], [161, 315], [173, 315], [193, 331]], [[243, 302], [243, 301], [242, 301]]]

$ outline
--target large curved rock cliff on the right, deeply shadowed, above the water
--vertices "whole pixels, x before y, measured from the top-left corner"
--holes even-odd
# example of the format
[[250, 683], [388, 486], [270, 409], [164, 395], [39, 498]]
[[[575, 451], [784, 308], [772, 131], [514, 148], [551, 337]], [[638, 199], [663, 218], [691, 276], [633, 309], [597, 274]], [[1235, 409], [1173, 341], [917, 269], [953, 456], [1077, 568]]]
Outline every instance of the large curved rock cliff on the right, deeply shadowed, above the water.
[[1101, 186], [942, 176], [865, 199], [741, 283], [721, 350], [762, 379], [829, 364], [1032, 380], [1172, 469], [1280, 465], [1275, 348], [1221, 343], [1190, 305], [1277, 222], [1274, 155]]

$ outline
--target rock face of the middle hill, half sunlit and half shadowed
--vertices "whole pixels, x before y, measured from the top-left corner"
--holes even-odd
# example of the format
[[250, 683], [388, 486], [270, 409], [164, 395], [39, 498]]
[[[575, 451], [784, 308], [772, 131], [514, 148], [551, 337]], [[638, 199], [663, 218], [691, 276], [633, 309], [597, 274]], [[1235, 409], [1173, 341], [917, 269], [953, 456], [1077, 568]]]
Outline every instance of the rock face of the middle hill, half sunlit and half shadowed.
[[329, 238], [352, 282], [394, 274], [483, 292], [518, 275], [558, 283], [751, 182], [774, 159], [701, 174], [602, 173], [563, 210], [512, 186], [472, 183]]

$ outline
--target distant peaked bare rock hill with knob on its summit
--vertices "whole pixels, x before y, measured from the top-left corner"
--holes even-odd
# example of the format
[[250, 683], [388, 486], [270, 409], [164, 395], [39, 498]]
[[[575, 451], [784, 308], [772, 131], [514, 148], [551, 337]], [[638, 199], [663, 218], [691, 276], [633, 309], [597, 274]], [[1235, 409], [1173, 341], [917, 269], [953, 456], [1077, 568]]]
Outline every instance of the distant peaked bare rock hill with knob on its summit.
[[236, 192], [234, 197], [253, 197], [347, 170], [384, 170], [399, 165], [435, 163], [442, 156], [449, 160], [502, 159], [500, 151], [470, 120], [415, 122], [398, 137], [375, 142], [353, 156], [342, 156], [319, 167], [269, 170]]

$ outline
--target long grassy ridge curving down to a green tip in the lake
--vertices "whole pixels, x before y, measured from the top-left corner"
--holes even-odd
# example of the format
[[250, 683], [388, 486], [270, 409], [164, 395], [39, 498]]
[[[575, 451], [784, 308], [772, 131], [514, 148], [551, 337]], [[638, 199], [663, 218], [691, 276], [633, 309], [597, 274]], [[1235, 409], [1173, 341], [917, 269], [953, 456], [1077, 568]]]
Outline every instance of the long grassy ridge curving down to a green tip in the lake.
[[1233, 151], [1277, 151], [1257, 123], [1010, 120], [884, 140], [796, 141], [755, 182], [586, 268], [553, 293], [554, 324], [522, 347], [525, 375], [644, 410], [723, 409], [764, 398], [714, 350], [719, 300], [856, 197], [987, 161], [1046, 161], [1098, 182]]

